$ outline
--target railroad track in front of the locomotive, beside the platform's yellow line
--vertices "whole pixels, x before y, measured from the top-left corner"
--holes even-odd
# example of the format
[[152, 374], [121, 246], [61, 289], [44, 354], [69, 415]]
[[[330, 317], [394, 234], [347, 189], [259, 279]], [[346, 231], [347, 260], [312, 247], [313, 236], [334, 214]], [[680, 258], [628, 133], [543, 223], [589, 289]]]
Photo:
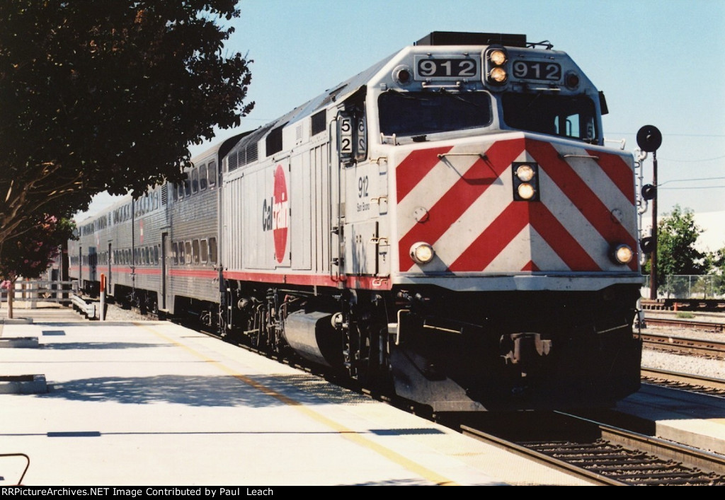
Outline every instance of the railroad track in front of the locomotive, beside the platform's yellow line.
[[[725, 486], [725, 457], [659, 438], [558, 414], [558, 434], [522, 440], [461, 425], [492, 443], [570, 475], [608, 486]], [[518, 429], [508, 429], [516, 433]]]

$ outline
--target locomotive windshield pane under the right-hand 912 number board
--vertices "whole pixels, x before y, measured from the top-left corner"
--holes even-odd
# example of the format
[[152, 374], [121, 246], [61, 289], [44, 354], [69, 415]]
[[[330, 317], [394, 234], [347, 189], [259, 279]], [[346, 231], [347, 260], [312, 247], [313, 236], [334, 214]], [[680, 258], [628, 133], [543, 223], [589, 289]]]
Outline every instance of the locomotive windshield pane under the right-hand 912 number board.
[[595, 106], [587, 96], [504, 93], [503, 121], [511, 128], [597, 142]]

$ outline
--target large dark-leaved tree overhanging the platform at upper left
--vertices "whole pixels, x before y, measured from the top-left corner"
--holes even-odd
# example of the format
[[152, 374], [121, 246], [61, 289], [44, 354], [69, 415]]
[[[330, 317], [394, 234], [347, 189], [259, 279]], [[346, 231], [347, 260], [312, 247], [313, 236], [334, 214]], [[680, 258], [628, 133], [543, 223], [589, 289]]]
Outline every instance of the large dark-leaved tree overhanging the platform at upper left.
[[0, 2], [0, 245], [96, 193], [178, 181], [239, 125], [251, 81], [223, 56], [237, 0]]

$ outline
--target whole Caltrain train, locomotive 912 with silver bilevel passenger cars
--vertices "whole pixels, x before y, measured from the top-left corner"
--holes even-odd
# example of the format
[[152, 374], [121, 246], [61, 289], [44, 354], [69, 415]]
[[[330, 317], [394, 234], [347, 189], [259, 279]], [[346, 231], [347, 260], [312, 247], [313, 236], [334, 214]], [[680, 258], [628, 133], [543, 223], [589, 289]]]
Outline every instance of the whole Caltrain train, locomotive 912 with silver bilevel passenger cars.
[[71, 276], [434, 412], [639, 388], [634, 159], [550, 43], [434, 32], [79, 225]]

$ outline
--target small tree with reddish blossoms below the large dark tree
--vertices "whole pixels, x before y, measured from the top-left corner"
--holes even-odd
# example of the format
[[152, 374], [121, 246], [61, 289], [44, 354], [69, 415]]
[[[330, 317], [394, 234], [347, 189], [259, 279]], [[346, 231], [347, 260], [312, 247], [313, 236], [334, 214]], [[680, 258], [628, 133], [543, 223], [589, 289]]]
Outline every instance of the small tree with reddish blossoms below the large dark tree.
[[[14, 288], [17, 278], [39, 278], [59, 255], [63, 243], [73, 238], [75, 222], [43, 215], [27, 219], [0, 248], [0, 280]], [[8, 293], [8, 317], [12, 318], [12, 293]]]

